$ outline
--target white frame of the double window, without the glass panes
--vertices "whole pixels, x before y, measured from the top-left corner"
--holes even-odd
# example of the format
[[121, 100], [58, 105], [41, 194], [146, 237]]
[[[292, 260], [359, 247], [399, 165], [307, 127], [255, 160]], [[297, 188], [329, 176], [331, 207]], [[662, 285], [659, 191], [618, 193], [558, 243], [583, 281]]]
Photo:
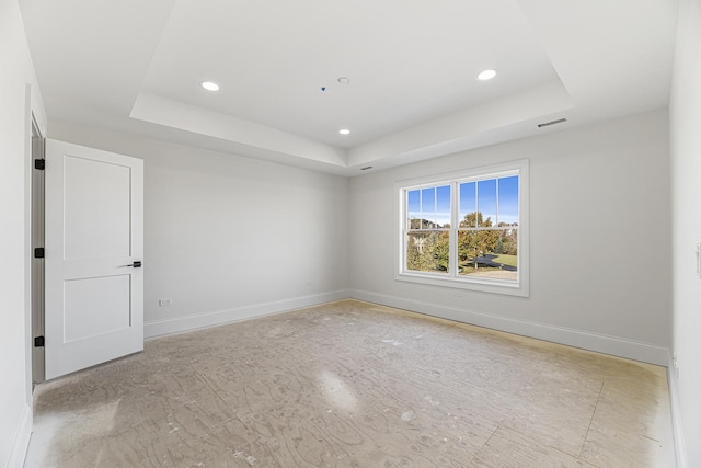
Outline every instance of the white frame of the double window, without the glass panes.
[[[394, 184], [395, 194], [395, 281], [421, 283], [459, 289], [472, 289], [485, 293], [506, 294], [529, 297], [529, 222], [528, 222], [528, 160], [504, 162], [481, 168], [466, 169], [450, 173], [429, 175], [400, 181]], [[460, 276], [457, 273], [458, 250], [458, 191], [460, 183], [518, 175], [518, 278], [496, 279], [474, 276]], [[407, 193], [412, 190], [450, 185], [450, 269], [448, 273], [417, 272], [406, 270], [405, 233], [407, 216]]]

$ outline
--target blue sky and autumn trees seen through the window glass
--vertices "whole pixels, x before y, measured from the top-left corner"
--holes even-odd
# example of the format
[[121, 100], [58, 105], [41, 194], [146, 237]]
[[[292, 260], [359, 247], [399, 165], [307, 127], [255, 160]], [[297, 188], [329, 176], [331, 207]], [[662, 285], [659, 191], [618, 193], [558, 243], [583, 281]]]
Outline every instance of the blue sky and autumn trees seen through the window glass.
[[518, 175], [407, 190], [405, 196], [406, 270], [518, 279]]

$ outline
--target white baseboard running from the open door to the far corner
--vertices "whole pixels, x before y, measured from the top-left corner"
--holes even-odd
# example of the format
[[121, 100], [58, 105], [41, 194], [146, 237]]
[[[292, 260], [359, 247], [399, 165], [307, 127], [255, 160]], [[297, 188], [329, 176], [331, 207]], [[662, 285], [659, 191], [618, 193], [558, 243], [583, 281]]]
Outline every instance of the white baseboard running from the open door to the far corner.
[[241, 320], [280, 313], [300, 309], [302, 307], [311, 307], [346, 298], [348, 298], [348, 290], [342, 289], [272, 303], [255, 304], [245, 307], [193, 313], [166, 320], [148, 321], [143, 323], [143, 338], [161, 336], [164, 334], [180, 333], [206, 327], [238, 322]]

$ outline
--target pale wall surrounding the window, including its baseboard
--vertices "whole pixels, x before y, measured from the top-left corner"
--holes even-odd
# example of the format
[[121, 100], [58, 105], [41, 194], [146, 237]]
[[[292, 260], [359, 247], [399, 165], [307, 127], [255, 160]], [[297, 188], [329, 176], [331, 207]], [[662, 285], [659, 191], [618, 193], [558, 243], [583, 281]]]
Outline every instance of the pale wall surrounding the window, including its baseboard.
[[[667, 363], [671, 340], [667, 113], [656, 111], [350, 181], [359, 298]], [[530, 160], [530, 298], [394, 281], [393, 184]]]

